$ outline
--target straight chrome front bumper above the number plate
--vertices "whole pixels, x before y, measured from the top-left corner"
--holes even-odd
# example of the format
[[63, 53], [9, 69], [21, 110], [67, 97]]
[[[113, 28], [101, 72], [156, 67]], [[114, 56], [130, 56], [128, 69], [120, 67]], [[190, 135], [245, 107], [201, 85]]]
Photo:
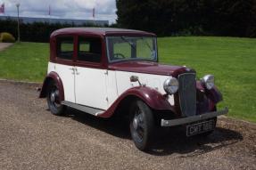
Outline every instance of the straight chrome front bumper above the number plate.
[[227, 114], [228, 109], [221, 109], [219, 111], [212, 111], [208, 113], [204, 113], [202, 115], [196, 115], [192, 117], [184, 117], [184, 118], [177, 118], [177, 119], [171, 119], [171, 120], [165, 120], [161, 119], [161, 126], [174, 126], [174, 125], [185, 125], [192, 122], [205, 120], [212, 117], [218, 117], [220, 115]]

